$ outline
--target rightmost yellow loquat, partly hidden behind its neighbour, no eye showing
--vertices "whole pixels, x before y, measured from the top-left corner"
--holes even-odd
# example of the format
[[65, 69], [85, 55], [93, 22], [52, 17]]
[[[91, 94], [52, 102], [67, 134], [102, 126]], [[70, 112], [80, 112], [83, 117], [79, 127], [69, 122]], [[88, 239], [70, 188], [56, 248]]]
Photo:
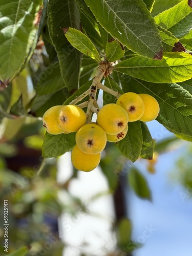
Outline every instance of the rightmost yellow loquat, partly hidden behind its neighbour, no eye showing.
[[153, 96], [145, 93], [140, 93], [139, 96], [142, 98], [145, 105], [145, 111], [139, 120], [148, 122], [156, 119], [159, 114], [159, 103], [157, 100]]

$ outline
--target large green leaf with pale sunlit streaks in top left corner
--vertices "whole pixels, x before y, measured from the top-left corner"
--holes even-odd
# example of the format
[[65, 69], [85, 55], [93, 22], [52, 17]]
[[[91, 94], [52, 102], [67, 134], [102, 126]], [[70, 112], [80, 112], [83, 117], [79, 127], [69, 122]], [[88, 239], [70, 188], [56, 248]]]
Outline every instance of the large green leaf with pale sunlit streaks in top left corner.
[[35, 39], [35, 17], [42, 0], [1, 0], [0, 80], [8, 83], [23, 67]]

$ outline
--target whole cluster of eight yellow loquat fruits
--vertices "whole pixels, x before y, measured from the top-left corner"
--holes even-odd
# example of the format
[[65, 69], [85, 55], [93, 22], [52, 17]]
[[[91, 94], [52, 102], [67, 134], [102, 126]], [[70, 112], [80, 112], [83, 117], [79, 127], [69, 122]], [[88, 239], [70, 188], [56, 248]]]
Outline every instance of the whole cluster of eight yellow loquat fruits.
[[126, 136], [128, 122], [152, 121], [158, 113], [159, 104], [154, 97], [128, 92], [118, 97], [116, 103], [104, 105], [96, 123], [86, 123], [86, 113], [74, 104], [53, 106], [42, 121], [50, 134], [76, 132], [72, 163], [75, 168], [90, 172], [98, 166], [106, 142], [118, 142]]

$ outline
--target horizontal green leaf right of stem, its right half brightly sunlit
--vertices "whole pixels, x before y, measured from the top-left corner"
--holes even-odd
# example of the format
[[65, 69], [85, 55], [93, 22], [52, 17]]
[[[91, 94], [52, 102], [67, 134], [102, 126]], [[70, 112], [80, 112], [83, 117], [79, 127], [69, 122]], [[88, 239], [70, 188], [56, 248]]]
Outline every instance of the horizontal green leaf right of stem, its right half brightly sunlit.
[[121, 61], [114, 70], [148, 82], [182, 82], [192, 76], [192, 56], [183, 52], [164, 53], [162, 60], [136, 56]]

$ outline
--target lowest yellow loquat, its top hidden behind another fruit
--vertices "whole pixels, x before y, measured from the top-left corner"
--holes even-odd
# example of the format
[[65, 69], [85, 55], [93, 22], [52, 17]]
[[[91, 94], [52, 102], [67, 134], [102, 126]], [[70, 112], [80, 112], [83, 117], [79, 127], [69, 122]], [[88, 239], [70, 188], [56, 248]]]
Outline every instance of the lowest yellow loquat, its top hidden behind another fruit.
[[71, 161], [73, 166], [82, 170], [83, 172], [90, 172], [95, 169], [101, 160], [100, 153], [96, 155], [89, 155], [83, 153], [77, 145], [74, 146], [71, 153]]

